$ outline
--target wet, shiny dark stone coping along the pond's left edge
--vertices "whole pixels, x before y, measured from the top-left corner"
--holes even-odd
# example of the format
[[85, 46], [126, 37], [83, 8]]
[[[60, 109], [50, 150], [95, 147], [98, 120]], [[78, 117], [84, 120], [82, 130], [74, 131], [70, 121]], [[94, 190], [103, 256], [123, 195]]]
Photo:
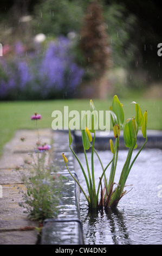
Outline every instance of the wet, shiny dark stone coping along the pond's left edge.
[[[74, 167], [74, 157], [69, 149], [68, 133], [54, 133], [54, 161], [56, 171], [64, 176], [60, 193], [60, 204], [56, 219], [45, 220], [42, 230], [42, 245], [80, 245], [83, 244], [82, 224], [80, 221], [80, 188], [69, 174], [64, 164], [62, 153], [68, 159], [70, 172], [77, 179]], [[51, 173], [52, 174], [52, 173]]]

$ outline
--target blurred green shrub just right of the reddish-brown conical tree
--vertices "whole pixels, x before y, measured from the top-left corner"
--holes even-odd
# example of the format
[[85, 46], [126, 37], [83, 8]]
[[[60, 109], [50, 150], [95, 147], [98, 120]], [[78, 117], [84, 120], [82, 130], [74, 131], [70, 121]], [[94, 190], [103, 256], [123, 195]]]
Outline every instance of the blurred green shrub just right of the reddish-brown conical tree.
[[129, 68], [137, 50], [134, 44], [137, 18], [124, 4], [111, 3], [103, 9], [114, 66]]

